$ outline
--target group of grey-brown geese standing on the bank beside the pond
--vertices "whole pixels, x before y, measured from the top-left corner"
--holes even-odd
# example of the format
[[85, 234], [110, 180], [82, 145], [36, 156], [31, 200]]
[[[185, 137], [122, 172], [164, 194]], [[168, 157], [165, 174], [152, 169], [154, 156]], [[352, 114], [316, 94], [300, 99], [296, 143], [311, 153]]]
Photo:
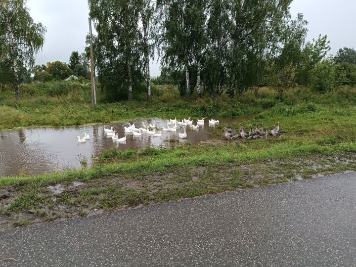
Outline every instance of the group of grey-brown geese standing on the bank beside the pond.
[[[261, 128], [258, 127], [258, 125], [256, 124], [256, 129], [255, 131], [253, 130], [253, 126], [249, 125], [250, 127], [250, 131], [249, 133], [245, 133], [245, 128], [241, 125], [240, 130], [239, 130], [239, 134], [237, 133], [233, 133], [231, 128], [227, 128], [225, 129], [225, 138], [227, 140], [233, 140], [236, 139], [239, 135], [243, 138], [243, 139], [250, 139], [250, 138], [265, 138], [268, 135], [268, 129], [267, 127], [263, 127], [263, 124], [261, 124]], [[277, 124], [277, 126], [273, 125], [273, 129], [270, 130], [269, 132], [271, 133], [271, 135], [273, 137], [281, 137], [283, 136], [283, 134], [279, 133], [279, 123]]]

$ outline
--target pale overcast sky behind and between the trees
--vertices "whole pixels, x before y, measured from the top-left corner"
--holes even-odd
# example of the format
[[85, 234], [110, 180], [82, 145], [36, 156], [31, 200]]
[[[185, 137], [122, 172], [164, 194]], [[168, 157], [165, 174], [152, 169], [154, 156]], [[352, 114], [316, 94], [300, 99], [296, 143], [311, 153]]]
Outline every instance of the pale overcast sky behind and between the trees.
[[[72, 51], [83, 52], [89, 32], [87, 0], [28, 0], [35, 22], [46, 28], [43, 51], [36, 64], [49, 61], [67, 62]], [[308, 25], [308, 40], [327, 34], [331, 41], [330, 53], [344, 46], [356, 47], [356, 0], [294, 0], [292, 16], [303, 13]], [[160, 65], [151, 63], [151, 75], [160, 74]]]

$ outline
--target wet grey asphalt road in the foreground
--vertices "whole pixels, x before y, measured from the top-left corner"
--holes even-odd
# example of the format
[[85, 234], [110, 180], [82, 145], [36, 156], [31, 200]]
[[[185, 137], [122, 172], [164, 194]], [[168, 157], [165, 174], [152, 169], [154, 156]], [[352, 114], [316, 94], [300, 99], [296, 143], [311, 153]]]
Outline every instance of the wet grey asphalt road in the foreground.
[[356, 266], [356, 174], [0, 232], [0, 266]]

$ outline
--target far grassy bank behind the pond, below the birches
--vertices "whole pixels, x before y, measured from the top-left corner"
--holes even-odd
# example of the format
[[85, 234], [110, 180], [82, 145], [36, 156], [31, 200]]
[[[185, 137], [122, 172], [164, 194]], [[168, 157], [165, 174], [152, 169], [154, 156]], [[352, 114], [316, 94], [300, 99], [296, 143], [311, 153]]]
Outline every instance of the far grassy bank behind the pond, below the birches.
[[[205, 97], [186, 101], [174, 86], [152, 87], [153, 101], [144, 101], [141, 94], [133, 102], [107, 102], [108, 96], [98, 91], [98, 104], [90, 105], [90, 86], [78, 82], [50, 82], [24, 85], [22, 99], [15, 101], [13, 92], [0, 92], [0, 130], [29, 126], [70, 126], [89, 123], [109, 123], [138, 117], [230, 117], [255, 114], [275, 105], [274, 91], [265, 90], [255, 97], [247, 92], [227, 99]], [[137, 100], [138, 99], [138, 100]], [[141, 99], [141, 100], [139, 100]]]

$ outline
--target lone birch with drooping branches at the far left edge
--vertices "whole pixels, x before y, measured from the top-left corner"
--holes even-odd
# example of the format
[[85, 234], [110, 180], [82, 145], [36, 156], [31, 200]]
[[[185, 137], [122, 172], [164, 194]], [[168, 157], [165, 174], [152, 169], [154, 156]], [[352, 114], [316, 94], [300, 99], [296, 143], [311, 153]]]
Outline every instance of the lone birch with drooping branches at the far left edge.
[[35, 55], [45, 42], [45, 26], [35, 23], [26, 7], [26, 0], [0, 2], [0, 65], [10, 62], [10, 75], [15, 98], [20, 99], [19, 67], [32, 69]]

